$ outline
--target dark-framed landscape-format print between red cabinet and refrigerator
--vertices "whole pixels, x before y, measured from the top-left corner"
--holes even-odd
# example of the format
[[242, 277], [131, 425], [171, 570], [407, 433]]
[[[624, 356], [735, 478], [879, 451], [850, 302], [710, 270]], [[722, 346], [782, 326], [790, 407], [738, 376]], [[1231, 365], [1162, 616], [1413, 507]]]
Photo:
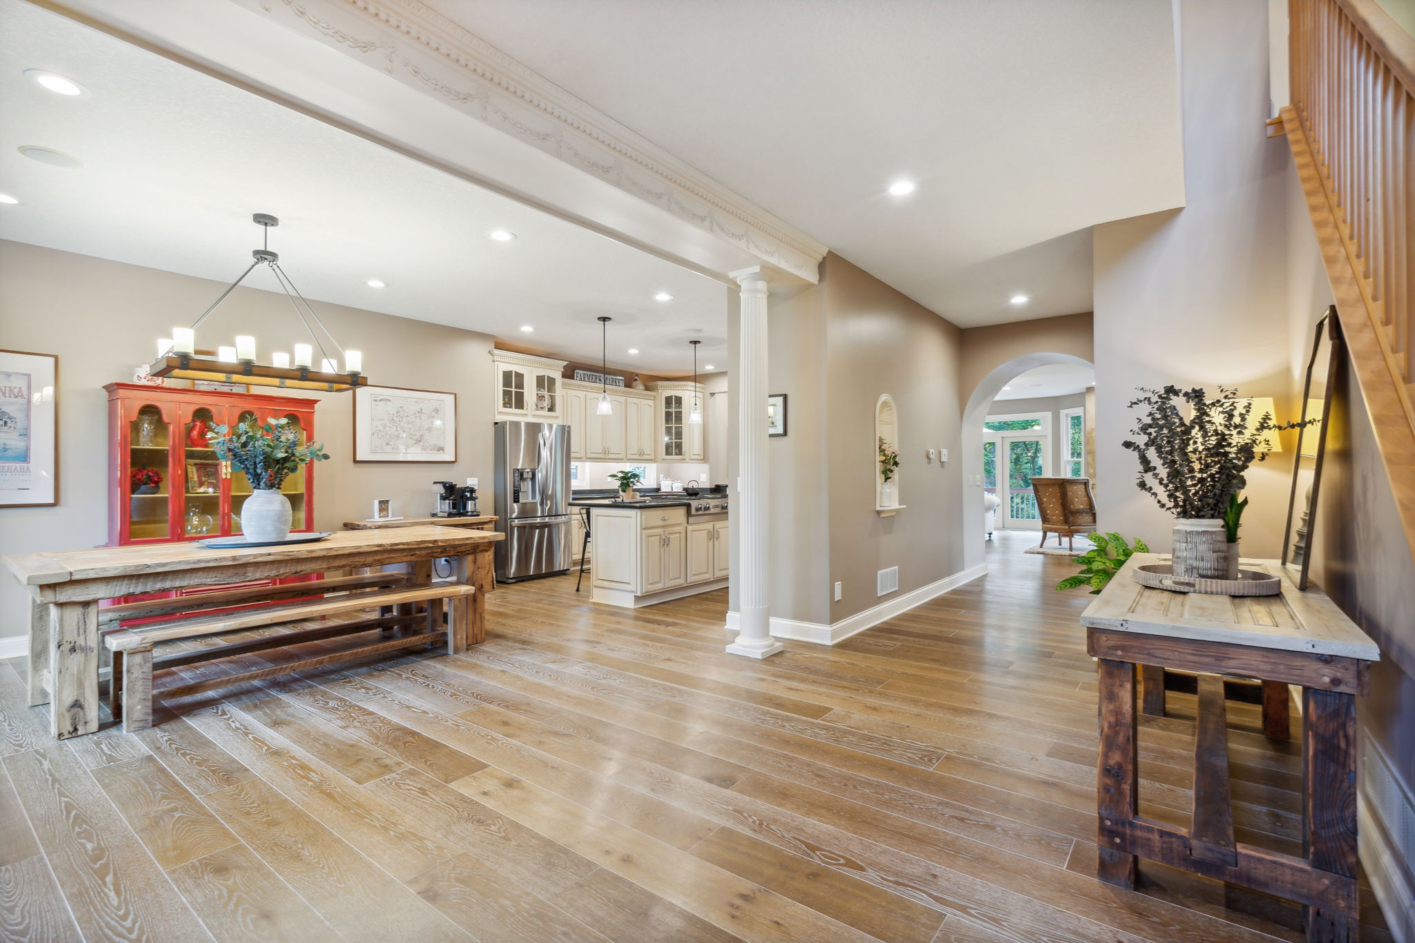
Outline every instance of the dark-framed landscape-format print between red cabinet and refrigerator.
[[354, 390], [354, 461], [457, 461], [457, 394], [361, 386]]

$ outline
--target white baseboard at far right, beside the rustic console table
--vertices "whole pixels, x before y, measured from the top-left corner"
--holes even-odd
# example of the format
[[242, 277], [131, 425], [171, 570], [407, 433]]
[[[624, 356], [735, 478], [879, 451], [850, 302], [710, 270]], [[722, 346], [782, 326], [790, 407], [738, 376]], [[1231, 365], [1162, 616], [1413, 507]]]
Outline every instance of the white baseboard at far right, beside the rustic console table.
[[1395, 943], [1415, 943], [1415, 796], [1370, 734], [1361, 737], [1357, 790], [1361, 867]]

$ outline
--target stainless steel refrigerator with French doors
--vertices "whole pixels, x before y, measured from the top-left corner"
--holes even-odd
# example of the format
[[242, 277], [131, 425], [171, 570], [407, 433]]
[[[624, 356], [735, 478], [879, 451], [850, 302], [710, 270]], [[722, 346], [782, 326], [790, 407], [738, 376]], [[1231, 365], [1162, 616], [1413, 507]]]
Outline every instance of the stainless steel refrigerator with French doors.
[[570, 570], [570, 427], [497, 423], [497, 580]]

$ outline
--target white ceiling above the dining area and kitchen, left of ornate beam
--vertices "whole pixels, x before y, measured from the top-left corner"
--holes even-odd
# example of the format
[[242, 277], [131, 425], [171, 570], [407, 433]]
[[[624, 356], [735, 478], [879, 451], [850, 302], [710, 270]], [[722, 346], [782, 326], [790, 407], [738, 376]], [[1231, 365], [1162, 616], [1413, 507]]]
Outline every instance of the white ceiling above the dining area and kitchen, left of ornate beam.
[[[282, 223], [270, 247], [311, 300], [590, 362], [607, 314], [611, 365], [688, 372], [688, 339], [700, 338], [700, 362], [726, 366], [727, 288], [710, 279], [20, 0], [0, 0], [0, 192], [21, 201], [0, 205], [0, 239], [231, 281], [259, 246], [250, 213], [269, 212]], [[54, 95], [27, 68], [91, 93]], [[35, 163], [24, 144], [83, 167]], [[492, 229], [518, 239], [492, 242]], [[197, 314], [174, 311], [173, 324]]]

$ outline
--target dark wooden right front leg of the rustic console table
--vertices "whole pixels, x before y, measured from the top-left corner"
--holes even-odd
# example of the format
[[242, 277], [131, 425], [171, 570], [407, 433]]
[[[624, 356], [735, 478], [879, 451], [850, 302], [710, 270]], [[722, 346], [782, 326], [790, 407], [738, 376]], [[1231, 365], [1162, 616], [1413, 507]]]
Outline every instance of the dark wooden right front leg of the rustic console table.
[[[1302, 844], [1313, 868], [1356, 877], [1356, 697], [1302, 689]], [[1356, 915], [1302, 909], [1310, 943], [1357, 939]]]

